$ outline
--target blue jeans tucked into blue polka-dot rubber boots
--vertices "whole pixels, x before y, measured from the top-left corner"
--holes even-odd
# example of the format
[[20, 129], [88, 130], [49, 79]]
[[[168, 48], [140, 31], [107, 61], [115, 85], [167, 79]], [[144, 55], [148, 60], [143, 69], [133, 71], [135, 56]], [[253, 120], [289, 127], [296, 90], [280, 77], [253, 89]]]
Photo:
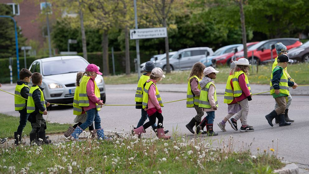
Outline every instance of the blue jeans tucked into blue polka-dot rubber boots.
[[94, 121], [94, 126], [96, 129], [101, 129], [101, 118], [99, 113], [97, 112], [96, 108], [90, 109], [86, 111], [87, 114], [87, 120], [85, 123], [81, 124], [79, 127], [85, 130], [87, 127], [89, 127], [91, 124], [93, 124]]

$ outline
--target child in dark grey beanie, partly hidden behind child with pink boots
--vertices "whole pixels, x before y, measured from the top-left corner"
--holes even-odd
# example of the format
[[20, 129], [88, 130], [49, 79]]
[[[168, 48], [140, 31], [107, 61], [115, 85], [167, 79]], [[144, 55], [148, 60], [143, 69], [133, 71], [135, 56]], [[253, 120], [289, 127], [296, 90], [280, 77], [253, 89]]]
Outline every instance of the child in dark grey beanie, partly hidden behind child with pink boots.
[[[153, 61], [148, 61], [145, 64], [144, 67], [144, 71], [145, 73], [140, 77], [140, 80], [138, 80], [138, 84], [137, 84], [137, 89], [136, 89], [136, 93], [135, 93], [135, 102], [136, 104], [142, 104], [143, 103], [143, 91], [144, 91], [144, 86], [146, 84], [146, 81], [149, 80], [149, 76], [151, 71], [155, 68], [154, 62]], [[139, 128], [141, 125], [143, 125], [146, 121], [147, 118], [149, 118], [147, 111], [145, 111], [143, 109], [142, 105], [136, 105], [135, 109], [140, 109], [141, 110], [141, 117], [140, 117], [140, 121], [137, 123], [136, 128]], [[157, 133], [157, 125], [154, 123], [153, 125], [151, 125], [152, 129], [154, 130], [155, 133]], [[135, 128], [134, 128], [135, 129]], [[169, 130], [166, 130], [164, 133], [168, 133]], [[133, 130], [132, 130], [132, 133]]]

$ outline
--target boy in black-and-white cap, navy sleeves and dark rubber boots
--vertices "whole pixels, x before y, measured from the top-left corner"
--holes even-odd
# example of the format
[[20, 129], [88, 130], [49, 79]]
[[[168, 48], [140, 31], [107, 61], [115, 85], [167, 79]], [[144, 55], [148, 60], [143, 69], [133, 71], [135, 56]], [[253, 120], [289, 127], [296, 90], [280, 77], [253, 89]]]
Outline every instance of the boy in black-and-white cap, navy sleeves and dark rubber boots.
[[288, 66], [288, 62], [292, 63], [288, 55], [282, 54], [277, 58], [278, 65], [273, 69], [270, 77], [270, 94], [273, 95], [278, 107], [270, 114], [267, 114], [267, 119], [270, 126], [273, 127], [272, 120], [277, 117], [279, 119], [279, 126], [288, 126], [291, 123], [286, 122], [284, 114], [287, 106], [287, 97], [289, 96], [289, 86], [294, 86], [294, 82], [288, 80], [287, 73], [283, 70]]

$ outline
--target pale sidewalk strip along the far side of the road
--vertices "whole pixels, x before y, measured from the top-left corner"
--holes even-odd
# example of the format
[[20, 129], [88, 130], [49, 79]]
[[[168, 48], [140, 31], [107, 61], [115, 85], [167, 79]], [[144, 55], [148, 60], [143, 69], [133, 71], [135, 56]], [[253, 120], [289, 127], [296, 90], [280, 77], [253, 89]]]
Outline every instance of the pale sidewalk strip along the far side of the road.
[[[224, 94], [226, 84], [215, 84], [217, 94]], [[160, 92], [183, 92], [187, 93], [187, 84], [157, 84]], [[269, 91], [269, 85], [250, 85], [252, 94]], [[137, 84], [105, 85], [108, 90], [129, 90], [135, 91]], [[309, 86], [300, 86], [297, 89], [290, 88], [291, 95], [309, 95]], [[259, 94], [269, 95], [269, 92]]]

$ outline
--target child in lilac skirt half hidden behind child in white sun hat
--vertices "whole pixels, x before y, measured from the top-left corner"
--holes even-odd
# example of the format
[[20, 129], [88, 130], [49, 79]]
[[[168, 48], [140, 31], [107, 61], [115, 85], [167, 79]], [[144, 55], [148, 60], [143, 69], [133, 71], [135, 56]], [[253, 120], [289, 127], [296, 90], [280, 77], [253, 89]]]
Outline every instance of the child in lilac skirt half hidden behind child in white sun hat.
[[[240, 104], [237, 103], [234, 98], [234, 93], [233, 93], [233, 88], [232, 88], [232, 82], [233, 82], [232, 81], [233, 79], [232, 71], [236, 66], [235, 63], [237, 63], [237, 61], [234, 61], [231, 63], [230, 75], [227, 79], [225, 93], [224, 93], [224, 103], [228, 105], [227, 114], [221, 122], [217, 123], [219, 128], [224, 132], [226, 131], [225, 123], [227, 122], [227, 120], [229, 120], [234, 114], [238, 113], [241, 110]], [[243, 122], [242, 118], [240, 118], [240, 121]], [[253, 126], [249, 126], [249, 127], [253, 128]]]

